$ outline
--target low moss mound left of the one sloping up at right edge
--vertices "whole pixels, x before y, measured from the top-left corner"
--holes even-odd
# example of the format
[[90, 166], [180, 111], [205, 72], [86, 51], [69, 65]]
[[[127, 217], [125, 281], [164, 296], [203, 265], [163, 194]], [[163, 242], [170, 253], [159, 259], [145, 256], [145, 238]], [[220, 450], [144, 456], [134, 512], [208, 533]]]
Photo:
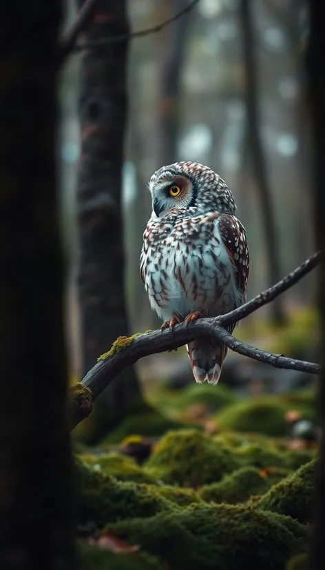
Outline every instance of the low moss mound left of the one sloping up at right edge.
[[251, 495], [263, 495], [270, 488], [266, 477], [255, 467], [241, 467], [225, 475], [218, 483], [205, 485], [200, 497], [206, 502], [236, 504], [247, 501]]

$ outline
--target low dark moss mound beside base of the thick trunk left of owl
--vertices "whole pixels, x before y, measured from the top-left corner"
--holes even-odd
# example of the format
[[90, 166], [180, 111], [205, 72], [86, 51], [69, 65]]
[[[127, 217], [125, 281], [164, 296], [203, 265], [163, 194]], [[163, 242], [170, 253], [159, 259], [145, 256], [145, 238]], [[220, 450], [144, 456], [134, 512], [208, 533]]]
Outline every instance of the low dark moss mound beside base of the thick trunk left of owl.
[[169, 420], [159, 412], [130, 415], [116, 429], [103, 438], [103, 444], [120, 443], [129, 435], [159, 437], [169, 430], [184, 428], [184, 424]]

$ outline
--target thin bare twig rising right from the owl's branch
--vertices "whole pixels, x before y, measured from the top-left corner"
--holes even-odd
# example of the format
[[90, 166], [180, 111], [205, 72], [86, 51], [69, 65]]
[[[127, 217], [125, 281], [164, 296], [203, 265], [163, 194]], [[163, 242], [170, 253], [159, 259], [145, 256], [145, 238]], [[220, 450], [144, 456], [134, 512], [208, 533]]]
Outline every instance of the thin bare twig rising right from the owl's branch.
[[235, 308], [233, 311], [230, 311], [230, 313], [227, 313], [227, 315], [222, 315], [222, 317], [219, 317], [219, 323], [222, 324], [222, 326], [228, 326], [229, 324], [233, 324], [242, 320], [244, 317], [248, 317], [248, 315], [251, 315], [251, 313], [256, 311], [256, 309], [262, 307], [263, 305], [266, 305], [267, 303], [270, 303], [275, 299], [275, 297], [278, 297], [281, 293], [284, 293], [284, 291], [290, 289], [293, 285], [300, 281], [302, 277], [313, 271], [313, 269], [315, 269], [315, 267], [319, 265], [320, 262], [321, 254], [318, 251], [306, 259], [306, 261], [297, 267], [297, 269], [289, 273], [289, 275], [283, 277], [283, 279], [281, 279], [281, 281], [279, 281], [277, 284], [273, 285], [269, 289], [266, 289], [264, 293], [260, 293], [257, 297], [254, 297], [254, 299], [251, 299], [251, 301], [248, 303]]

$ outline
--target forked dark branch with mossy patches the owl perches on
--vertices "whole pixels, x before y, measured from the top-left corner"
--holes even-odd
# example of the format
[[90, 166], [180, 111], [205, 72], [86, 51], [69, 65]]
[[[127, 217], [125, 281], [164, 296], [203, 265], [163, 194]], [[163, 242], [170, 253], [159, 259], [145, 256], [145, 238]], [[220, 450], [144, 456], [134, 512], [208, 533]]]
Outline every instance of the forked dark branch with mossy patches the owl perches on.
[[[300, 281], [304, 275], [312, 271], [319, 264], [320, 260], [320, 253], [315, 253], [315, 255], [295, 269], [295, 271], [286, 275], [279, 283], [267, 291], [264, 291], [264, 293], [260, 293], [255, 299], [235, 309], [235, 311], [227, 313], [227, 315], [216, 318], [199, 319], [189, 326], [181, 323], [176, 325], [173, 331], [169, 331], [167, 328], [164, 331], [147, 332], [134, 335], [130, 338], [119, 337], [109, 353], [100, 357], [97, 364], [85, 375], [82, 382], [77, 385], [80, 387], [80, 390], [75, 387], [73, 388], [73, 390], [78, 393], [78, 401], [75, 401], [73, 394], [71, 394], [71, 400], [73, 400], [70, 405], [70, 408], [73, 409], [73, 417], [71, 419], [72, 429], [78, 422], [81, 422], [81, 420], [89, 415], [91, 411], [90, 393], [94, 401], [106, 386], [127, 368], [127, 366], [135, 364], [140, 358], [145, 356], [184, 346], [198, 337], [211, 336], [218, 338], [220, 342], [231, 348], [232, 351], [253, 358], [254, 360], [260, 360], [260, 362], [266, 362], [267, 364], [275, 366], [275, 368], [287, 368], [311, 374], [319, 374], [321, 368], [318, 364], [261, 351], [259, 348], [254, 348], [253, 346], [249, 346], [249, 344], [235, 339], [224, 327], [233, 322], [242, 320], [261, 306], [273, 301], [277, 295], [284, 293], [284, 291]], [[87, 402], [85, 402], [85, 405], [82, 405], [83, 394], [81, 390], [84, 388], [89, 389], [91, 392], [89, 390], [87, 391], [87, 395], [85, 396]]]

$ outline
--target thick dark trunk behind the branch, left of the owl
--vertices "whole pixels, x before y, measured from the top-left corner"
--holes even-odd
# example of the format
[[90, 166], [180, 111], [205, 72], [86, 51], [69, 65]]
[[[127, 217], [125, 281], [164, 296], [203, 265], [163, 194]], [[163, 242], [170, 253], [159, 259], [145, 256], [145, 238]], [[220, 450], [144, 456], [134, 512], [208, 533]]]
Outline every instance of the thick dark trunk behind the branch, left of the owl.
[[[82, 5], [83, 0], [78, 0]], [[128, 31], [125, 1], [100, 0], [85, 41]], [[116, 337], [128, 334], [121, 209], [126, 57], [127, 42], [117, 41], [86, 50], [81, 65], [77, 213], [83, 375]], [[96, 404], [87, 426], [88, 441], [101, 438], [141, 405], [138, 379], [129, 368]]]

